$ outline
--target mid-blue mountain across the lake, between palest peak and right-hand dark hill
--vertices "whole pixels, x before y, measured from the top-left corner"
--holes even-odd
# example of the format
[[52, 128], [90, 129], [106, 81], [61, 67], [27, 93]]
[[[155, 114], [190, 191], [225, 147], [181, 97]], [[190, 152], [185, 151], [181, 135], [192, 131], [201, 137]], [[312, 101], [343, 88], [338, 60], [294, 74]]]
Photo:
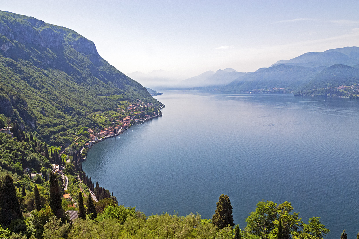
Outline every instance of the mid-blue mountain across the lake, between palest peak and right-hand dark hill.
[[297, 89], [307, 84], [324, 67], [302, 67], [279, 64], [269, 68], [260, 68], [256, 72], [238, 77], [220, 91], [247, 92], [254, 89], [287, 88]]

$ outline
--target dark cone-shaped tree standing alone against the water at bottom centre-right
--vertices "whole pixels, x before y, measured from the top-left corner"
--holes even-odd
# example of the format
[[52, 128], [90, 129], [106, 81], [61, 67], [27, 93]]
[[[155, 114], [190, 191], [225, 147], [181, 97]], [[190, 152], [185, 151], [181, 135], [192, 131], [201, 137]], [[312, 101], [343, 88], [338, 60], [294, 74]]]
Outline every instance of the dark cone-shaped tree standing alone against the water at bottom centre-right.
[[230, 204], [229, 196], [224, 194], [220, 195], [216, 205], [217, 209], [212, 216], [212, 223], [219, 229], [223, 229], [227, 225], [233, 228], [232, 205]]

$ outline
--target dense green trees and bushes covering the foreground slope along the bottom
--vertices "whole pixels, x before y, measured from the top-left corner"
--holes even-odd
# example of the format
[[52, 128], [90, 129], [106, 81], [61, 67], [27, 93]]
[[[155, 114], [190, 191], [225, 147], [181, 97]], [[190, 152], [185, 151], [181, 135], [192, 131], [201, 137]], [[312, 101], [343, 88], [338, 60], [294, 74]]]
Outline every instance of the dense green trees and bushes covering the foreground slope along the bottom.
[[[72, 181], [85, 187], [76, 178]], [[303, 223], [288, 202], [258, 202], [241, 230], [238, 225], [233, 229], [227, 195], [220, 195], [215, 214], [208, 220], [198, 213], [146, 216], [136, 208], [118, 205], [115, 197], [95, 203], [82, 192], [72, 202], [62, 197], [62, 182], [53, 173], [48, 181], [28, 180], [27, 187], [23, 183], [13, 182], [9, 174], [0, 177], [0, 238], [314, 239], [329, 233], [318, 217]], [[79, 218], [70, 220], [64, 213], [69, 209]]]

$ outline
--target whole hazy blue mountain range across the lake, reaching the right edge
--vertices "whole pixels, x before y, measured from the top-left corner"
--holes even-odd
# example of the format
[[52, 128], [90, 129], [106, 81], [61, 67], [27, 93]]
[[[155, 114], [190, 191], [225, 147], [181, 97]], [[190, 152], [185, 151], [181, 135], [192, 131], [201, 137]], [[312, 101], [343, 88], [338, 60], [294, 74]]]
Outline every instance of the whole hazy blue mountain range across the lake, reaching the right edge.
[[344, 47], [279, 60], [256, 72], [241, 73], [231, 68], [208, 71], [182, 81], [179, 88], [359, 97], [358, 85], [359, 47]]

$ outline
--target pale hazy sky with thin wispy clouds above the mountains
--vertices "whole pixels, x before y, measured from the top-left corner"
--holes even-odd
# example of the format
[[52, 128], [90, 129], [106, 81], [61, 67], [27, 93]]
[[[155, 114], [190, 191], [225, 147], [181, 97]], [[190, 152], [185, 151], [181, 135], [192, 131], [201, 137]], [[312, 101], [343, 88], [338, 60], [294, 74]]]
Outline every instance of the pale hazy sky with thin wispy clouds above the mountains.
[[358, 1], [9, 0], [0, 10], [73, 29], [121, 72], [192, 77], [359, 46]]

